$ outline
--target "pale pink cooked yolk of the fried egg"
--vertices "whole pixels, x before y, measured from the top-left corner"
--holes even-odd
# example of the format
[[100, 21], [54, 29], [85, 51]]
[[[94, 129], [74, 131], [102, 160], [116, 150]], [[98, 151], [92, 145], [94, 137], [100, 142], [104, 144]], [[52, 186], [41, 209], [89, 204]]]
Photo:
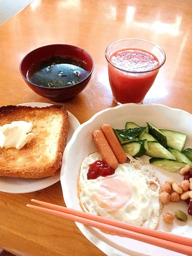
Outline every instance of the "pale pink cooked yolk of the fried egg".
[[107, 211], [122, 208], [132, 197], [131, 187], [119, 177], [105, 179], [98, 188], [96, 200]]

